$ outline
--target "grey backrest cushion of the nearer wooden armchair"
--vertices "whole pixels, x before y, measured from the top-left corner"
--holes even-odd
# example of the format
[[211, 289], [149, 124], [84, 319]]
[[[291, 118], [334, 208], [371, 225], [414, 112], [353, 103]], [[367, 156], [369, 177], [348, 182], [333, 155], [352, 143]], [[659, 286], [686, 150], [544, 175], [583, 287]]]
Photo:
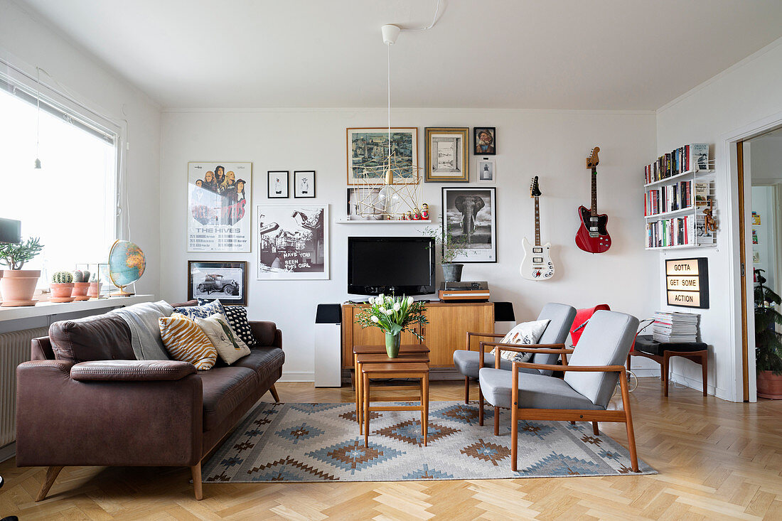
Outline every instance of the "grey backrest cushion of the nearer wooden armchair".
[[[568, 365], [624, 365], [633, 345], [638, 319], [616, 311], [596, 311], [587, 322]], [[596, 405], [611, 400], [618, 372], [565, 372], [565, 382]]]

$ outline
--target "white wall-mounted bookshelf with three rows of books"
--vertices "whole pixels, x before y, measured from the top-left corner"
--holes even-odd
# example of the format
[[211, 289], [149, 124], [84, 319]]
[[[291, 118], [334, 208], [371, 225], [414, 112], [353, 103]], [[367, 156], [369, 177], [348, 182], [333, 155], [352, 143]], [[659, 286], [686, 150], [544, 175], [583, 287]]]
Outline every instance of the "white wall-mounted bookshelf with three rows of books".
[[644, 167], [646, 249], [716, 246], [704, 210], [716, 219], [715, 175], [708, 144], [682, 146]]

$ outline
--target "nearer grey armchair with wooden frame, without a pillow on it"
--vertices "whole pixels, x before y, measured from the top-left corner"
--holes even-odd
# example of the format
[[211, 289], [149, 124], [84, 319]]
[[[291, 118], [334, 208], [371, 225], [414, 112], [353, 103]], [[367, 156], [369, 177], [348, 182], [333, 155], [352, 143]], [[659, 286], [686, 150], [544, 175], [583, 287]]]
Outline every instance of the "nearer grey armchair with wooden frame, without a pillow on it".
[[[622, 363], [630, 353], [638, 319], [615, 311], [597, 311], [584, 328], [575, 350], [536, 350], [535, 346], [497, 346], [495, 363], [500, 350], [517, 352], [533, 351], [561, 356], [562, 364], [546, 365], [512, 362], [511, 371], [497, 368], [481, 368], [479, 384], [486, 401], [495, 407], [494, 433], [498, 432], [497, 408], [511, 409], [511, 469], [516, 470], [518, 450], [518, 421], [570, 421], [592, 422], [595, 434], [597, 422], [624, 422], [630, 447], [633, 472], [638, 472], [633, 417], [630, 413], [630, 393], [627, 389], [626, 369]], [[484, 345], [485, 344], [485, 345]], [[481, 343], [481, 350], [493, 343]], [[570, 361], [567, 354], [572, 354]], [[525, 372], [517, 368], [538, 371], [564, 371], [565, 379]], [[614, 393], [616, 382], [622, 390], [622, 410], [608, 411], [608, 401]]]

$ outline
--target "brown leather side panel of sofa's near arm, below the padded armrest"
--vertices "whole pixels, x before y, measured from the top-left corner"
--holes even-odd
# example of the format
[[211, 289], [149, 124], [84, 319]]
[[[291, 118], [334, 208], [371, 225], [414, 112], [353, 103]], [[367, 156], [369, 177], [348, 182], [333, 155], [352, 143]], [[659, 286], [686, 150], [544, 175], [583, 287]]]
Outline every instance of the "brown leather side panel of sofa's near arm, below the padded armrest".
[[16, 368], [16, 465], [192, 466], [202, 458], [198, 375], [163, 381], [70, 377], [71, 361]]

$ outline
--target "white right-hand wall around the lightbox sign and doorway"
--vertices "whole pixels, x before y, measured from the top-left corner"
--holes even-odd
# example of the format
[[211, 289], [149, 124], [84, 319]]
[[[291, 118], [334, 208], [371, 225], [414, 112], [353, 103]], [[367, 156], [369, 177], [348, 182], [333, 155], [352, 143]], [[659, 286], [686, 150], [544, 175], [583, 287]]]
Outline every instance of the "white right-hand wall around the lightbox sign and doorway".
[[[774, 41], [748, 59], [737, 63], [712, 80], [662, 107], [657, 114], [657, 154], [693, 142], [712, 144], [716, 156], [716, 198], [719, 232], [714, 249], [683, 250], [660, 255], [662, 273], [665, 258], [693, 254], [708, 257], [711, 308], [700, 311], [701, 336], [710, 344], [708, 384], [711, 392], [726, 400], [741, 401], [741, 318], [732, 302], [737, 285], [735, 220], [730, 210], [735, 203], [736, 180], [731, 178], [726, 140], [754, 122], [782, 112], [782, 39]], [[782, 117], [782, 116], [780, 116]], [[737, 211], [737, 210], [734, 210]], [[748, 262], [752, 263], [752, 257]], [[751, 278], [750, 278], [751, 279]], [[660, 286], [660, 302], [665, 293]], [[663, 306], [665, 307], [665, 306]], [[669, 311], [682, 311], [669, 307]], [[752, 309], [752, 307], [750, 307]], [[752, 350], [750, 350], [752, 353]], [[673, 361], [674, 379], [700, 388], [701, 368], [689, 361]]]

